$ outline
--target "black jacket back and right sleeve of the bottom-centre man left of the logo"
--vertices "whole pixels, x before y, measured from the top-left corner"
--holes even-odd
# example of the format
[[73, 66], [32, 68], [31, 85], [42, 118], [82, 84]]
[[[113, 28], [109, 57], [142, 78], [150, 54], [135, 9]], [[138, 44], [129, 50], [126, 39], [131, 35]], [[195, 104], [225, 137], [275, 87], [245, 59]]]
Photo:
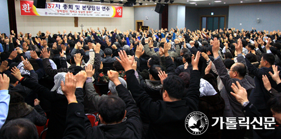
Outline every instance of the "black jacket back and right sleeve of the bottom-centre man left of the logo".
[[123, 85], [117, 86], [116, 90], [126, 103], [126, 118], [119, 124], [91, 127], [90, 121], [85, 117], [86, 138], [142, 138], [142, 122], [130, 92]]

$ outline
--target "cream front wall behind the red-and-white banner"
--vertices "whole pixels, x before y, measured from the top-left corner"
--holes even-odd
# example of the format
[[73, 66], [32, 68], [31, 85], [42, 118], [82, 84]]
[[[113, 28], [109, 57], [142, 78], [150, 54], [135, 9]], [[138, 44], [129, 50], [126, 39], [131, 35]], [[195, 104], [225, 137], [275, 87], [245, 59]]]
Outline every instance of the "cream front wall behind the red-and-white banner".
[[[65, 1], [67, 3], [67, 1]], [[114, 5], [115, 6], [115, 5]], [[19, 1], [15, 1], [16, 9], [16, 22], [17, 22], [17, 32], [31, 33], [36, 36], [38, 31], [45, 32], [50, 31], [51, 34], [57, 33], [63, 30], [81, 32], [80, 25], [83, 24], [83, 29], [92, 27], [100, 30], [105, 26], [107, 30], [113, 30], [117, 27], [120, 31], [126, 31], [134, 29], [134, 8], [133, 7], [123, 7], [123, 17], [122, 18], [98, 18], [98, 17], [78, 17], [79, 27], [74, 27], [74, 17], [51, 17], [51, 16], [21, 16], [19, 9]]]

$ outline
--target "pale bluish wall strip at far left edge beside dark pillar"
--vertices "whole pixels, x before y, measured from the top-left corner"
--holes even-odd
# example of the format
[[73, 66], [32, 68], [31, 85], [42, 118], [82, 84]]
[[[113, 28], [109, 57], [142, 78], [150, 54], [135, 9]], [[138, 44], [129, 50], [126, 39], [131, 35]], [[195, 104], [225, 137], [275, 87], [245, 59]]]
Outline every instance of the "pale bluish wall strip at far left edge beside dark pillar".
[[8, 14], [8, 3], [7, 0], [0, 0], [0, 21], [1, 27], [0, 32], [6, 33], [6, 35], [10, 35], [10, 25], [9, 25], [9, 14]]

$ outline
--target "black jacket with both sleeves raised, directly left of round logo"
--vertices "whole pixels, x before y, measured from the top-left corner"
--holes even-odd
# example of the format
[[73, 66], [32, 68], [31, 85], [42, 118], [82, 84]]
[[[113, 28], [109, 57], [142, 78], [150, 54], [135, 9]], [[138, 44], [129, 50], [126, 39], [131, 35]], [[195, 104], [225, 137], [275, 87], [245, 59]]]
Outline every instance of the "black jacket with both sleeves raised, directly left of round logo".
[[194, 70], [190, 88], [182, 100], [166, 102], [152, 98], [138, 84], [134, 70], [126, 72], [128, 88], [137, 106], [149, 118], [150, 124], [146, 138], [191, 138], [185, 129], [185, 118], [198, 110], [200, 72]]

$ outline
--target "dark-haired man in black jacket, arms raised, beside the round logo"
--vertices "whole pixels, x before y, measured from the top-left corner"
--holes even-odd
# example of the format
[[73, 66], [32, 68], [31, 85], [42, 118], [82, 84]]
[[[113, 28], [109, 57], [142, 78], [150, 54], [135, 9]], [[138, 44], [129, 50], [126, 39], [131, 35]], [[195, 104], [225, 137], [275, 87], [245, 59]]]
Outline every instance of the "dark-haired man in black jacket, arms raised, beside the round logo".
[[[169, 55], [169, 46], [167, 45], [164, 46], [166, 47], [164, 49], [167, 49], [165, 50], [165, 56]], [[138, 84], [134, 70], [132, 70], [133, 60], [127, 58], [125, 51], [121, 51], [119, 56], [121, 60], [118, 59], [118, 61], [126, 71], [128, 88], [137, 106], [150, 120], [146, 138], [191, 138], [191, 134], [185, 129], [184, 120], [191, 112], [198, 110], [200, 94], [198, 62], [200, 53], [198, 52], [196, 59], [192, 60], [193, 72], [188, 90], [189, 93], [182, 97], [184, 82], [179, 77], [161, 75], [160, 79], [163, 81], [163, 100], [157, 100], [156, 102]], [[166, 79], [165, 76], [167, 77]]]

